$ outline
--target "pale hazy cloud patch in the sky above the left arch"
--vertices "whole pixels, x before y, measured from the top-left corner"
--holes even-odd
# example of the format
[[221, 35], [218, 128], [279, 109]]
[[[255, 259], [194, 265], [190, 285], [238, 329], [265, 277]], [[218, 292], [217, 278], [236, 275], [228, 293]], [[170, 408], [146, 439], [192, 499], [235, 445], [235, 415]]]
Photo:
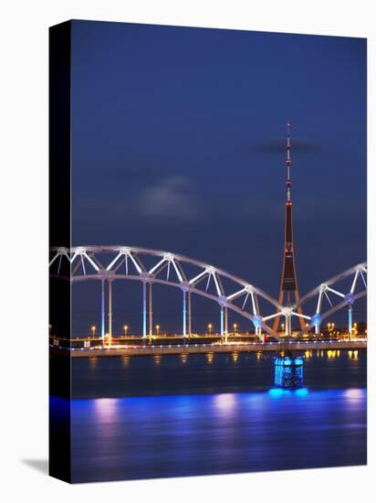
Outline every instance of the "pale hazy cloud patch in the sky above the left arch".
[[144, 188], [139, 209], [143, 215], [157, 218], [195, 219], [199, 214], [192, 181], [186, 177], [167, 177]]

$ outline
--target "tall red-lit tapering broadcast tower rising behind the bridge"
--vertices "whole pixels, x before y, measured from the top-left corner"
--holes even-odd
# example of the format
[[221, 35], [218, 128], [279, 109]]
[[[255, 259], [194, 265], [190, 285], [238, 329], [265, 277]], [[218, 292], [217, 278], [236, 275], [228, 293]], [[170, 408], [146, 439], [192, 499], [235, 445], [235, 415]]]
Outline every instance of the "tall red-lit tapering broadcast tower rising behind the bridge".
[[[294, 250], [294, 235], [292, 226], [292, 202], [291, 202], [291, 178], [290, 178], [290, 123], [287, 122], [287, 143], [286, 143], [286, 166], [287, 166], [287, 199], [285, 213], [285, 248], [283, 252], [282, 276], [279, 287], [278, 301], [281, 305], [292, 305], [293, 298], [295, 302], [299, 300], [297, 272], [295, 268], [295, 250]], [[298, 313], [302, 315], [301, 308], [298, 308]], [[273, 329], [277, 332], [280, 316], [277, 316], [274, 321]], [[291, 323], [291, 317], [286, 320]], [[304, 318], [299, 316], [300, 328], [304, 330]], [[291, 333], [291, 326], [286, 327], [286, 333]]]

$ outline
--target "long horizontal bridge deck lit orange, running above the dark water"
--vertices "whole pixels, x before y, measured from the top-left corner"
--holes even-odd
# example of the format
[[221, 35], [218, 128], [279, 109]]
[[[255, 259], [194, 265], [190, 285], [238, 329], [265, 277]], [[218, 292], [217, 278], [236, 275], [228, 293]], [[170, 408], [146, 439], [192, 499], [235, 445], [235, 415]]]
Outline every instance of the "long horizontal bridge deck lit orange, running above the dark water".
[[305, 351], [307, 349], [367, 349], [366, 340], [339, 340], [339, 341], [293, 341], [266, 342], [266, 343], [232, 343], [232, 344], [197, 344], [197, 345], [171, 345], [171, 346], [119, 346], [111, 348], [75, 348], [70, 351], [65, 348], [51, 347], [56, 354], [70, 354], [72, 358], [88, 357], [120, 357], [147, 356], [147, 355], [180, 355], [182, 353], [232, 353], [234, 351], [259, 352], [259, 351]]

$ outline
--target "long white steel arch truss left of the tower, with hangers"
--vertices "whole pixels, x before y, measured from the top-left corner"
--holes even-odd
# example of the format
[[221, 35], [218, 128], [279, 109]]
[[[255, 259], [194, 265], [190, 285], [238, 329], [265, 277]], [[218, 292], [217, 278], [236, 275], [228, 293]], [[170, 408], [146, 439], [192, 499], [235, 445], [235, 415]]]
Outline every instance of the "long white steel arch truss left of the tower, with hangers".
[[[63, 261], [68, 261], [69, 273], [62, 272]], [[152, 262], [150, 265], [147, 262]], [[253, 284], [249, 284], [213, 265], [195, 261], [183, 255], [145, 248], [127, 246], [78, 246], [71, 249], [53, 248], [49, 263], [50, 273], [68, 279], [72, 283], [89, 280], [136, 280], [149, 284], [167, 284], [180, 288], [183, 292], [183, 335], [187, 331], [187, 305], [190, 294], [198, 294], [217, 302], [221, 308], [221, 336], [228, 333], [227, 309], [250, 320], [256, 327], [256, 335], [262, 337], [262, 330], [280, 340], [277, 332], [266, 321], [277, 315], [262, 316], [259, 299], [266, 301], [270, 311], [284, 314], [284, 307]], [[195, 273], [188, 270], [195, 268]], [[145, 294], [144, 294], [145, 307]], [[190, 310], [190, 307], [189, 307]], [[144, 337], [145, 334], [144, 309]], [[190, 316], [190, 313], [188, 313]], [[188, 319], [188, 331], [191, 321]]]

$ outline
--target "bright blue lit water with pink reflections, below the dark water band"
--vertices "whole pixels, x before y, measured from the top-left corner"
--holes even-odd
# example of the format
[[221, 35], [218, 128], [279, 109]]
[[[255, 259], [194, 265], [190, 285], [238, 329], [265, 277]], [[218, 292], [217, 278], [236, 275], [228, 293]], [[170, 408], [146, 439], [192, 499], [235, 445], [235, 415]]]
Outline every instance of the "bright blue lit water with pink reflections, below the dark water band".
[[365, 464], [366, 412], [364, 389], [73, 401], [72, 476], [82, 482]]

